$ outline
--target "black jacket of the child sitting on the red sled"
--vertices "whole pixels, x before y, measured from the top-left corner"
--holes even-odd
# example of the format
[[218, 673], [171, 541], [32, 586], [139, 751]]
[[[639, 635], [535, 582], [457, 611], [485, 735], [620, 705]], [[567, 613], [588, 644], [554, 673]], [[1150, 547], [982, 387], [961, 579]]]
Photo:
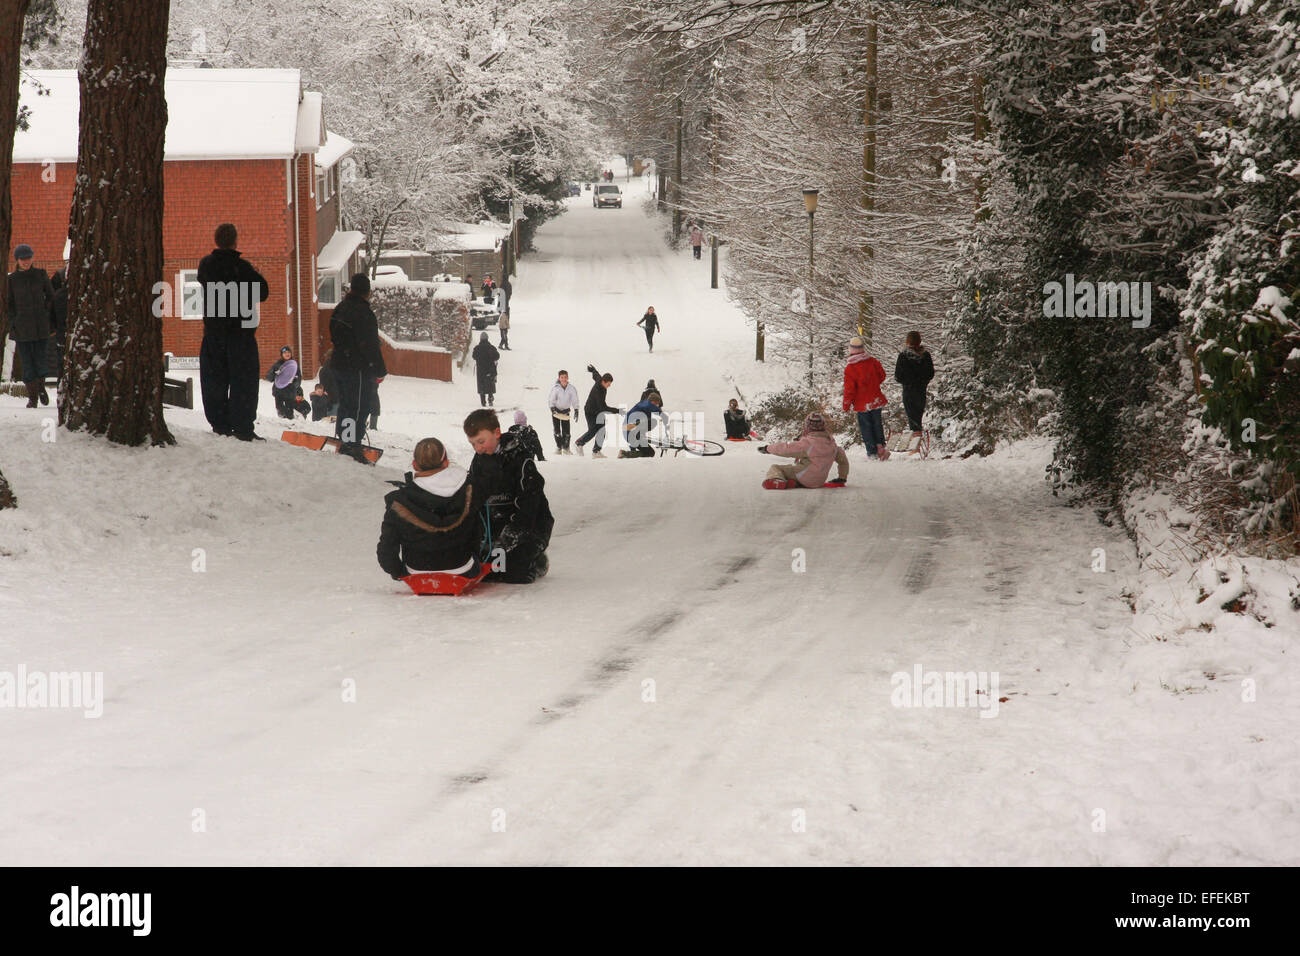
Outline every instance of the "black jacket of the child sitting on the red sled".
[[384, 498], [386, 510], [376, 554], [390, 576], [404, 578], [408, 567], [417, 571], [462, 567], [477, 557], [481, 502], [471, 481], [447, 498], [420, 488], [410, 471], [404, 483], [389, 484], [396, 485], [396, 490]]

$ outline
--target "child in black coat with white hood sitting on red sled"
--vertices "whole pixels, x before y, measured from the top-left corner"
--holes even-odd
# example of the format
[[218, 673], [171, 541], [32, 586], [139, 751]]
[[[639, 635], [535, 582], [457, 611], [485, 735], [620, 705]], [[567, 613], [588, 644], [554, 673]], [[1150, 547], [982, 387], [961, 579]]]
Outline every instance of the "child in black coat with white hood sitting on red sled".
[[415, 446], [411, 468], [384, 498], [380, 567], [394, 580], [428, 571], [476, 576], [482, 502], [469, 473], [451, 464], [437, 438]]

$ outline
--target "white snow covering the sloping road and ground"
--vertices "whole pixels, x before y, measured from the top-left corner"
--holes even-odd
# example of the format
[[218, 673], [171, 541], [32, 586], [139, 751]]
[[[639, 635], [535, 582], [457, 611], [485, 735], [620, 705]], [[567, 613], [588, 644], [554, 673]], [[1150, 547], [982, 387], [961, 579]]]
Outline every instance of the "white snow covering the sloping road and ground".
[[[588, 362], [612, 372], [619, 402], [653, 376], [711, 437], [732, 377], [781, 380], [637, 199], [569, 200], [520, 264], [498, 401], [543, 437], [559, 367], [584, 395]], [[0, 709], [0, 857], [1300, 861], [1295, 656], [1234, 648], [1234, 676], [1266, 658], [1256, 702], [1162, 685], [1186, 649], [1135, 630], [1132, 545], [1052, 498], [1045, 445], [859, 450], [827, 492], [762, 490], [749, 445], [550, 457], [551, 574], [420, 598], [376, 564], [385, 483], [428, 434], [468, 459], [473, 380], [381, 394], [378, 468], [217, 438], [198, 411], [168, 411], [172, 449], [46, 442], [52, 412], [0, 397], [21, 503], [0, 512], [0, 678], [104, 675], [99, 718]], [[1294, 643], [1294, 618], [1273, 632]], [[997, 683], [980, 706], [894, 706], [916, 667]]]

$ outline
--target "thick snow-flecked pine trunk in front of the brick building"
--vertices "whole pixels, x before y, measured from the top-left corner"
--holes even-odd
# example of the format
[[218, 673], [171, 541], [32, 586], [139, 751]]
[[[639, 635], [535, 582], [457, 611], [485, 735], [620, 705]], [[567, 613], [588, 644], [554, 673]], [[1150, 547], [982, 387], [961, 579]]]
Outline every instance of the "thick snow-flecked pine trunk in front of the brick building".
[[121, 445], [172, 444], [162, 420], [162, 135], [168, 0], [90, 0], [58, 420]]

